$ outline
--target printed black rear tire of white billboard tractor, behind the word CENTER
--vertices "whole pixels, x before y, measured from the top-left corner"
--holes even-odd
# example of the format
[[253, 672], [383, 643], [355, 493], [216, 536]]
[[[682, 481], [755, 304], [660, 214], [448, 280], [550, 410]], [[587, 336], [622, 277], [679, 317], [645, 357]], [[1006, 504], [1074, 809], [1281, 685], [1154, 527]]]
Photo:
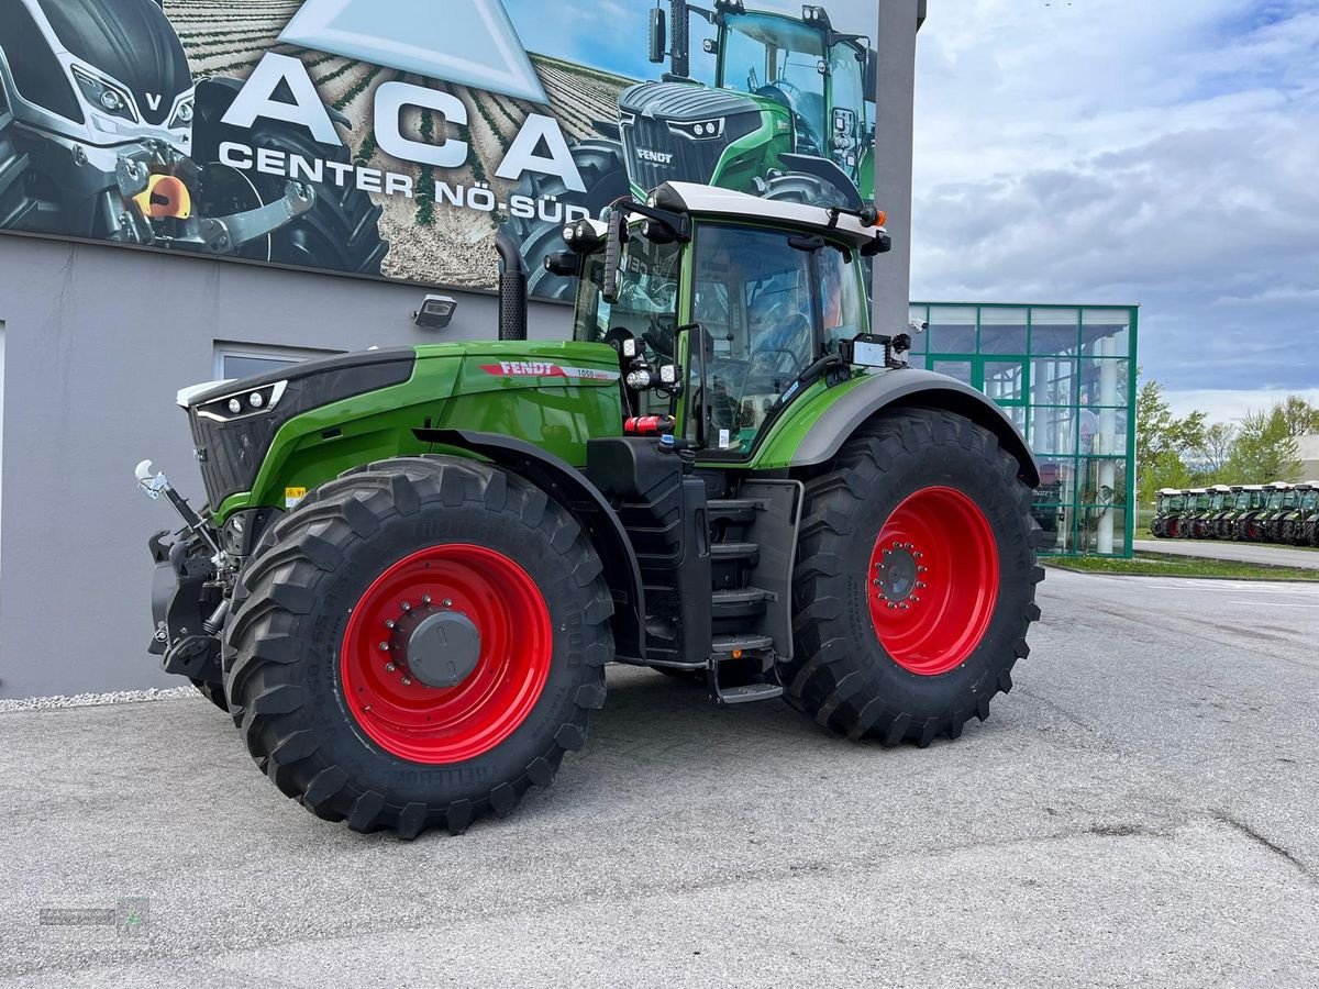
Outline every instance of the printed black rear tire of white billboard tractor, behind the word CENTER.
[[[197, 91], [195, 146], [199, 165], [219, 160], [222, 141], [237, 141], [252, 148], [268, 148], [307, 161], [352, 164], [347, 146], [318, 144], [305, 127], [259, 119], [251, 131], [220, 123], [236, 90], [227, 80], [203, 80]], [[327, 173], [332, 174], [332, 173]], [[284, 198], [289, 183], [282, 175], [244, 171], [264, 203]], [[389, 243], [380, 236], [383, 207], [352, 182], [309, 183], [317, 194], [315, 206], [280, 227], [269, 237], [269, 260], [298, 268], [321, 268], [353, 274], [380, 274]], [[206, 208], [203, 196], [202, 208]]]

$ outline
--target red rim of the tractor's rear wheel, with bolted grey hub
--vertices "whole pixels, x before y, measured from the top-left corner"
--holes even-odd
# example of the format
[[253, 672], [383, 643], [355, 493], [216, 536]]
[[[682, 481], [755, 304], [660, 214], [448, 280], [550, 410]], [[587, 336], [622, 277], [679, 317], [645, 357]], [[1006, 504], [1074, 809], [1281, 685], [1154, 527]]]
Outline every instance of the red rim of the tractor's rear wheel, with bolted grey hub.
[[998, 547], [984, 512], [954, 488], [923, 488], [880, 529], [865, 582], [880, 645], [938, 676], [966, 661], [998, 600]]

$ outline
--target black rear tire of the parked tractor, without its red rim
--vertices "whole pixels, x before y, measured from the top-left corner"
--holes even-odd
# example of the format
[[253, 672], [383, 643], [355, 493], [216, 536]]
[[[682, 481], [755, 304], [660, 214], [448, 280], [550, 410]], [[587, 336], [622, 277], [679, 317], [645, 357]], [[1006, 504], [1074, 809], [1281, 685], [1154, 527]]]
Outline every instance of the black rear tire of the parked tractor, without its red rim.
[[[997, 547], [997, 597], [983, 637], [960, 665], [913, 673], [889, 655], [871, 620], [871, 554], [904, 501], [933, 485], [966, 496]], [[794, 658], [780, 673], [785, 699], [851, 738], [926, 746], [956, 738], [1012, 690], [1012, 667], [1038, 620], [1039, 525], [1017, 460], [988, 430], [946, 411], [905, 409], [863, 426], [832, 469], [807, 484], [793, 579]], [[929, 579], [929, 578], [926, 578]], [[915, 584], [922, 587], [922, 584]], [[923, 593], [923, 592], [922, 592]], [[919, 599], [915, 599], [917, 601]]]

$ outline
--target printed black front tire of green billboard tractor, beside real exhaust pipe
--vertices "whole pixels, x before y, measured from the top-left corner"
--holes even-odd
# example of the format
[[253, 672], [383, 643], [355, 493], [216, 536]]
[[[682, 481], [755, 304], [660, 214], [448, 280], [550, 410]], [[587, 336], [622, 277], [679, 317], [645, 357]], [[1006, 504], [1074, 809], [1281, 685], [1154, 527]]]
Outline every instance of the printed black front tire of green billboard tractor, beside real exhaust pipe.
[[[554, 196], [567, 206], [580, 206], [592, 218], [619, 196], [627, 195], [628, 169], [623, 164], [623, 145], [603, 138], [590, 138], [572, 145], [572, 161], [582, 175], [586, 193], [575, 193], [563, 185], [558, 175], [528, 173], [522, 178], [518, 194], [539, 200]], [[566, 214], [565, 214], [566, 215]], [[522, 247], [522, 260], [526, 262], [529, 295], [541, 299], [571, 299], [576, 291], [576, 278], [551, 274], [545, 269], [545, 257], [566, 248], [563, 243], [563, 223], [546, 223], [536, 216], [512, 216], [509, 232]]]

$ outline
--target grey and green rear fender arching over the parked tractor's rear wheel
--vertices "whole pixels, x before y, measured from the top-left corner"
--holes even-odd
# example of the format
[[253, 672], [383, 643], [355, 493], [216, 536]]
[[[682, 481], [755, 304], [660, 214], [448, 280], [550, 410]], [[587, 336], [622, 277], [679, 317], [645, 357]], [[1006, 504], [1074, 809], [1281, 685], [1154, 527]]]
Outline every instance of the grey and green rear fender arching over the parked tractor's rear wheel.
[[[762, 455], [765, 467], [827, 463], [872, 415], [886, 409], [919, 406], [956, 413], [993, 433], [998, 444], [1017, 459], [1021, 479], [1031, 488], [1039, 487], [1039, 464], [1012, 419], [983, 393], [947, 375], [911, 368], [865, 375], [836, 389], [826, 389], [802, 405], [797, 415], [785, 415], [785, 422], [768, 436]], [[797, 436], [799, 442], [793, 447]]]

